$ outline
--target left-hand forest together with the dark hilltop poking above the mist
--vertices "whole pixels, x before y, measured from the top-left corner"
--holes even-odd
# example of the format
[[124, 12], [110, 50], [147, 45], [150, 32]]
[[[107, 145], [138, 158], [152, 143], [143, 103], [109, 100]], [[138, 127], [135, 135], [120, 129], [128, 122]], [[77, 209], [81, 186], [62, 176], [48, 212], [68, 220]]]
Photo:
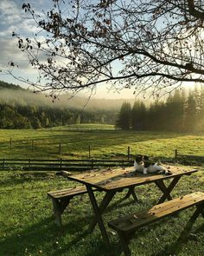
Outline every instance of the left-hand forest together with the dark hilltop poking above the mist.
[[[4, 94], [12, 96], [7, 100]], [[108, 123], [114, 124], [118, 115], [116, 110], [68, 108], [64, 105], [48, 105], [29, 102], [25, 95], [30, 91], [19, 86], [0, 81], [0, 128], [49, 128], [74, 123]], [[24, 98], [19, 95], [25, 94]], [[30, 98], [32, 99], [32, 98]], [[41, 100], [41, 98], [39, 98]]]

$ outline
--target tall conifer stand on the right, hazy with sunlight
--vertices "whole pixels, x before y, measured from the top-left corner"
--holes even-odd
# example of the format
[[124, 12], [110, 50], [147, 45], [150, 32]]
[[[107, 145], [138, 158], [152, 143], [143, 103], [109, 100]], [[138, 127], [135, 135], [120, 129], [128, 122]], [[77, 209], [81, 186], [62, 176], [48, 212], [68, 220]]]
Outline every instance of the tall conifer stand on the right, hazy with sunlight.
[[134, 130], [175, 132], [204, 131], [204, 89], [176, 89], [165, 102], [152, 102], [149, 107], [136, 101], [124, 102], [118, 113], [116, 127]]

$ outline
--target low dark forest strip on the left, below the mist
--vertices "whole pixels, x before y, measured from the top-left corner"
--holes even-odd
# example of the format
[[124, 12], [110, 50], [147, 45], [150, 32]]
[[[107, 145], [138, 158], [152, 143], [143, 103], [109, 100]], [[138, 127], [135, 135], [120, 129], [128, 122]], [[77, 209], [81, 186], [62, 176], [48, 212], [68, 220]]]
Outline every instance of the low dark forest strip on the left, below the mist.
[[0, 128], [49, 128], [74, 123], [114, 124], [116, 113], [0, 103]]

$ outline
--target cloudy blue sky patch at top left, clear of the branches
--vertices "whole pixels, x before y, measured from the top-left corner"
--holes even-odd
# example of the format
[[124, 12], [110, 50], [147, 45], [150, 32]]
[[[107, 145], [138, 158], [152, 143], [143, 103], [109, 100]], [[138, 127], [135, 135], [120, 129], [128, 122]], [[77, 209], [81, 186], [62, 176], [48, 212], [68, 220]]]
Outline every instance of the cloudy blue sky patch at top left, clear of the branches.
[[[46, 2], [48, 1], [41, 0], [37, 3], [34, 0], [29, 1], [39, 10]], [[0, 69], [5, 70], [8, 62], [15, 62], [19, 64], [19, 69], [16, 71], [18, 75], [29, 77], [35, 76], [36, 70], [29, 65], [27, 56], [18, 49], [16, 38], [12, 37], [13, 31], [26, 38], [35, 34], [37, 30], [33, 19], [22, 10], [22, 3], [24, 0], [0, 0]], [[1, 79], [2, 76], [1, 74]], [[6, 80], [8, 81], [8, 78]]]

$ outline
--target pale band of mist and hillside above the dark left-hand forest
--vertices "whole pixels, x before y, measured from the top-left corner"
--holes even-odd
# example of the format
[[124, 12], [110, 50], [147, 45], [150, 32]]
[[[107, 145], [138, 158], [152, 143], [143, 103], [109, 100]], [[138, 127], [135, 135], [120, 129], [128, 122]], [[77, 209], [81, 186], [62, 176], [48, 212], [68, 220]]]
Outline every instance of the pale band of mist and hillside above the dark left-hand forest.
[[[91, 110], [105, 110], [105, 111], [118, 111], [123, 104], [124, 99], [97, 99], [91, 97], [87, 99], [82, 96], [70, 97], [70, 95], [61, 95], [59, 99], [54, 100], [45, 94], [34, 93], [29, 89], [22, 89], [19, 85], [14, 85], [7, 82], [0, 81], [0, 102], [3, 103], [16, 103], [19, 105], [35, 105], [40, 107], [49, 108], [69, 108], [79, 109], [85, 108], [87, 111]], [[134, 100], [127, 100], [133, 104]]]

